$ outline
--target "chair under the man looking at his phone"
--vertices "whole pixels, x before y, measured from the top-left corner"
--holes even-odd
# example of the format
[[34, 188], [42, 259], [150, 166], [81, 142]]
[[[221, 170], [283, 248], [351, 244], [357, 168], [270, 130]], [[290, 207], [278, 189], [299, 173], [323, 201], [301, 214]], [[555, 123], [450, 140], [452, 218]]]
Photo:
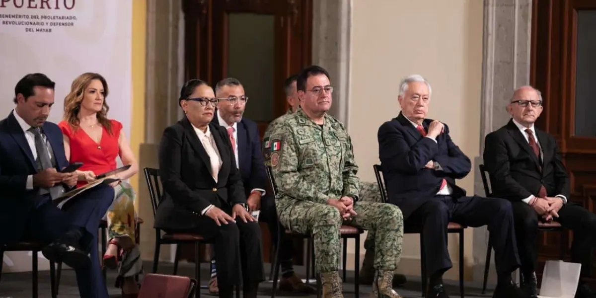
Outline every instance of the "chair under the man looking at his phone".
[[[0, 278], [2, 277], [2, 265], [4, 259], [4, 252], [32, 252], [32, 270], [31, 273], [33, 275], [32, 281], [32, 291], [33, 291], [33, 298], [38, 297], [38, 253], [44, 248], [45, 244], [38, 243], [38, 242], [25, 242], [21, 241], [14, 244], [0, 244]], [[50, 280], [50, 288], [51, 288], [51, 295], [52, 298], [57, 297], [57, 291], [55, 288], [55, 274], [56, 268], [54, 262], [49, 262], [49, 280]]]

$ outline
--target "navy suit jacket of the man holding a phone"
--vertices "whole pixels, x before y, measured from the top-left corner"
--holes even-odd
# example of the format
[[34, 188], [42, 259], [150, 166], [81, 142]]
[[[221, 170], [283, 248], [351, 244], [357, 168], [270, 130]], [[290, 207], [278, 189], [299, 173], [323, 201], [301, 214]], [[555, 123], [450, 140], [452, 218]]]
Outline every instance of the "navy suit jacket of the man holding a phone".
[[[57, 168], [66, 167], [69, 163], [60, 128], [55, 123], [45, 122], [42, 130], [54, 151]], [[0, 244], [23, 238], [29, 211], [39, 195], [39, 188], [26, 190], [27, 176], [35, 173], [33, 153], [11, 112], [0, 121]]]

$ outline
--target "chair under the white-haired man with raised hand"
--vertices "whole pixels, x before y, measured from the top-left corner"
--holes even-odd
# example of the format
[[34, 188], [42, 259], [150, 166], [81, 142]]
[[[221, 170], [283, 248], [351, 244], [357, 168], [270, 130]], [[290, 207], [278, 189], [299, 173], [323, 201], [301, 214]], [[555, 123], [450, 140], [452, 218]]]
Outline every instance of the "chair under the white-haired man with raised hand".
[[[377, 177], [378, 188], [381, 191], [381, 198], [385, 203], [389, 203], [389, 197], [387, 196], [387, 189], [385, 188], [384, 179], [382, 177], [383, 170], [379, 164], [373, 165], [374, 175]], [[449, 222], [447, 225], [448, 233], [457, 233], [460, 235], [460, 296], [464, 298], [464, 229], [467, 226], [458, 224], [457, 222]], [[427, 272], [426, 272], [426, 259], [424, 257], [424, 236], [422, 234], [422, 227], [420, 226], [403, 226], [403, 234], [420, 234], [420, 275], [422, 280], [422, 297], [426, 296], [427, 287]]]

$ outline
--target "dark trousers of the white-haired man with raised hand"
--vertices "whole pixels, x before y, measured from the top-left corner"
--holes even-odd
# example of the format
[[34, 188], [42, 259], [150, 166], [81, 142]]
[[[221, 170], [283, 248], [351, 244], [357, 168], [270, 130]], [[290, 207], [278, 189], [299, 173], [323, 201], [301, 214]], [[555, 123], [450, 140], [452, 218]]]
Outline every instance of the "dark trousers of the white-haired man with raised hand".
[[[509, 274], [519, 268], [511, 203], [500, 198], [437, 196], [416, 209], [404, 226], [421, 226], [429, 274], [446, 271], [453, 265], [447, 249], [447, 225], [486, 225], [495, 250], [496, 272]], [[461, 260], [460, 260], [461, 261]]]

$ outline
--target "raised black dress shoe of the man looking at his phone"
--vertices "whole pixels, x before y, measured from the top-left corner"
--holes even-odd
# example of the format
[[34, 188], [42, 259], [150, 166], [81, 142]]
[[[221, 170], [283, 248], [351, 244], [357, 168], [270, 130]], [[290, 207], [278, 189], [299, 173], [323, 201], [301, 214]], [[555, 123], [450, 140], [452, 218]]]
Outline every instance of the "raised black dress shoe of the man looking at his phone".
[[72, 241], [55, 241], [41, 250], [50, 262], [63, 262], [73, 269], [86, 268], [91, 265], [89, 256]]

